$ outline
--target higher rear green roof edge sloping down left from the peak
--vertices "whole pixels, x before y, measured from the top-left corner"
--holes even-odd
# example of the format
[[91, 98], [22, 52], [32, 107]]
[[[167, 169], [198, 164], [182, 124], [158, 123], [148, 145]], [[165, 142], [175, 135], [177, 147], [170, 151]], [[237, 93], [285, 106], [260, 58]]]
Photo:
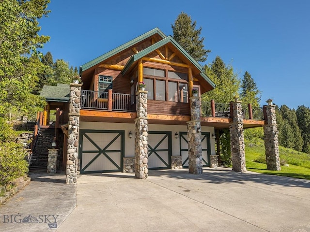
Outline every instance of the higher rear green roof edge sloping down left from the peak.
[[114, 56], [115, 54], [117, 54], [117, 53], [127, 49], [128, 47], [134, 45], [135, 43], [141, 42], [142, 40], [144, 40], [144, 39], [146, 39], [146, 38], [148, 38], [148, 37], [150, 37], [150, 36], [152, 36], [154, 34], [159, 34], [162, 38], [166, 38], [166, 35], [159, 28], [152, 29], [152, 30], [144, 33], [143, 35], [140, 35], [139, 37], [137, 37], [137, 38], [135, 38], [135, 39], [133, 39], [133, 40], [127, 42], [127, 43], [124, 43], [123, 45], [121, 45], [121, 46], [119, 46], [119, 47], [109, 51], [108, 53], [106, 53], [106, 54], [104, 54], [104, 55], [102, 55], [100, 57], [97, 57], [97, 58], [87, 62], [86, 64], [83, 64], [82, 66], [80, 66], [80, 74], [83, 71], [93, 67], [94, 65], [96, 65], [96, 64], [98, 64], [100, 62], [102, 62], [103, 60], [108, 59], [108, 58]]

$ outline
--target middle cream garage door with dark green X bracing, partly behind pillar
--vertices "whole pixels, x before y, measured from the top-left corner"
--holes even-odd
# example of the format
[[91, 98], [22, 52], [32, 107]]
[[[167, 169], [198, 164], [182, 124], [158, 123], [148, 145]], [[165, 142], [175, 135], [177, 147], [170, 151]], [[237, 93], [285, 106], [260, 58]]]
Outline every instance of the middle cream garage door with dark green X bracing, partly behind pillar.
[[170, 168], [171, 154], [171, 131], [148, 131], [148, 168]]

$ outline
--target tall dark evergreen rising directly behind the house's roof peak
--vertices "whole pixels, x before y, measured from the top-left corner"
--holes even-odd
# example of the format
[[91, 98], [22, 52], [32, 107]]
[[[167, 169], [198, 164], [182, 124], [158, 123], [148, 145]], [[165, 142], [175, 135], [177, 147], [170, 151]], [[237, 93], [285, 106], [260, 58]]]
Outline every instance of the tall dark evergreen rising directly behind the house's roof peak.
[[202, 27], [196, 29], [196, 21], [192, 22], [189, 15], [181, 12], [171, 24], [173, 38], [197, 61], [204, 62], [210, 50], [205, 50], [204, 37], [201, 37]]

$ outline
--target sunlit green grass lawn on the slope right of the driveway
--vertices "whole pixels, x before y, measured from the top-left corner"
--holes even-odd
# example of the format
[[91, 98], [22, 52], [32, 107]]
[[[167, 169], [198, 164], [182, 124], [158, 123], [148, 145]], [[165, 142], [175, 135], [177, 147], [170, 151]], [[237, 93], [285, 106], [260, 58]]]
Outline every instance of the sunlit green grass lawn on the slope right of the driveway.
[[281, 166], [281, 171], [266, 170], [266, 164], [255, 162], [264, 156], [263, 140], [246, 141], [247, 170], [263, 174], [289, 176], [310, 180], [310, 155], [279, 146], [280, 160], [285, 160], [289, 167]]

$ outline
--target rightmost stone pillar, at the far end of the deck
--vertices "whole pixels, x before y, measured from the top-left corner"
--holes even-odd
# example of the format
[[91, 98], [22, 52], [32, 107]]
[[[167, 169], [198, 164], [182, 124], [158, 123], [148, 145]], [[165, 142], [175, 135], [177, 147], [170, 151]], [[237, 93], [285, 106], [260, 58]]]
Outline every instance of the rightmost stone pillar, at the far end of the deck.
[[264, 105], [263, 110], [267, 123], [263, 126], [267, 170], [281, 171], [275, 106]]

